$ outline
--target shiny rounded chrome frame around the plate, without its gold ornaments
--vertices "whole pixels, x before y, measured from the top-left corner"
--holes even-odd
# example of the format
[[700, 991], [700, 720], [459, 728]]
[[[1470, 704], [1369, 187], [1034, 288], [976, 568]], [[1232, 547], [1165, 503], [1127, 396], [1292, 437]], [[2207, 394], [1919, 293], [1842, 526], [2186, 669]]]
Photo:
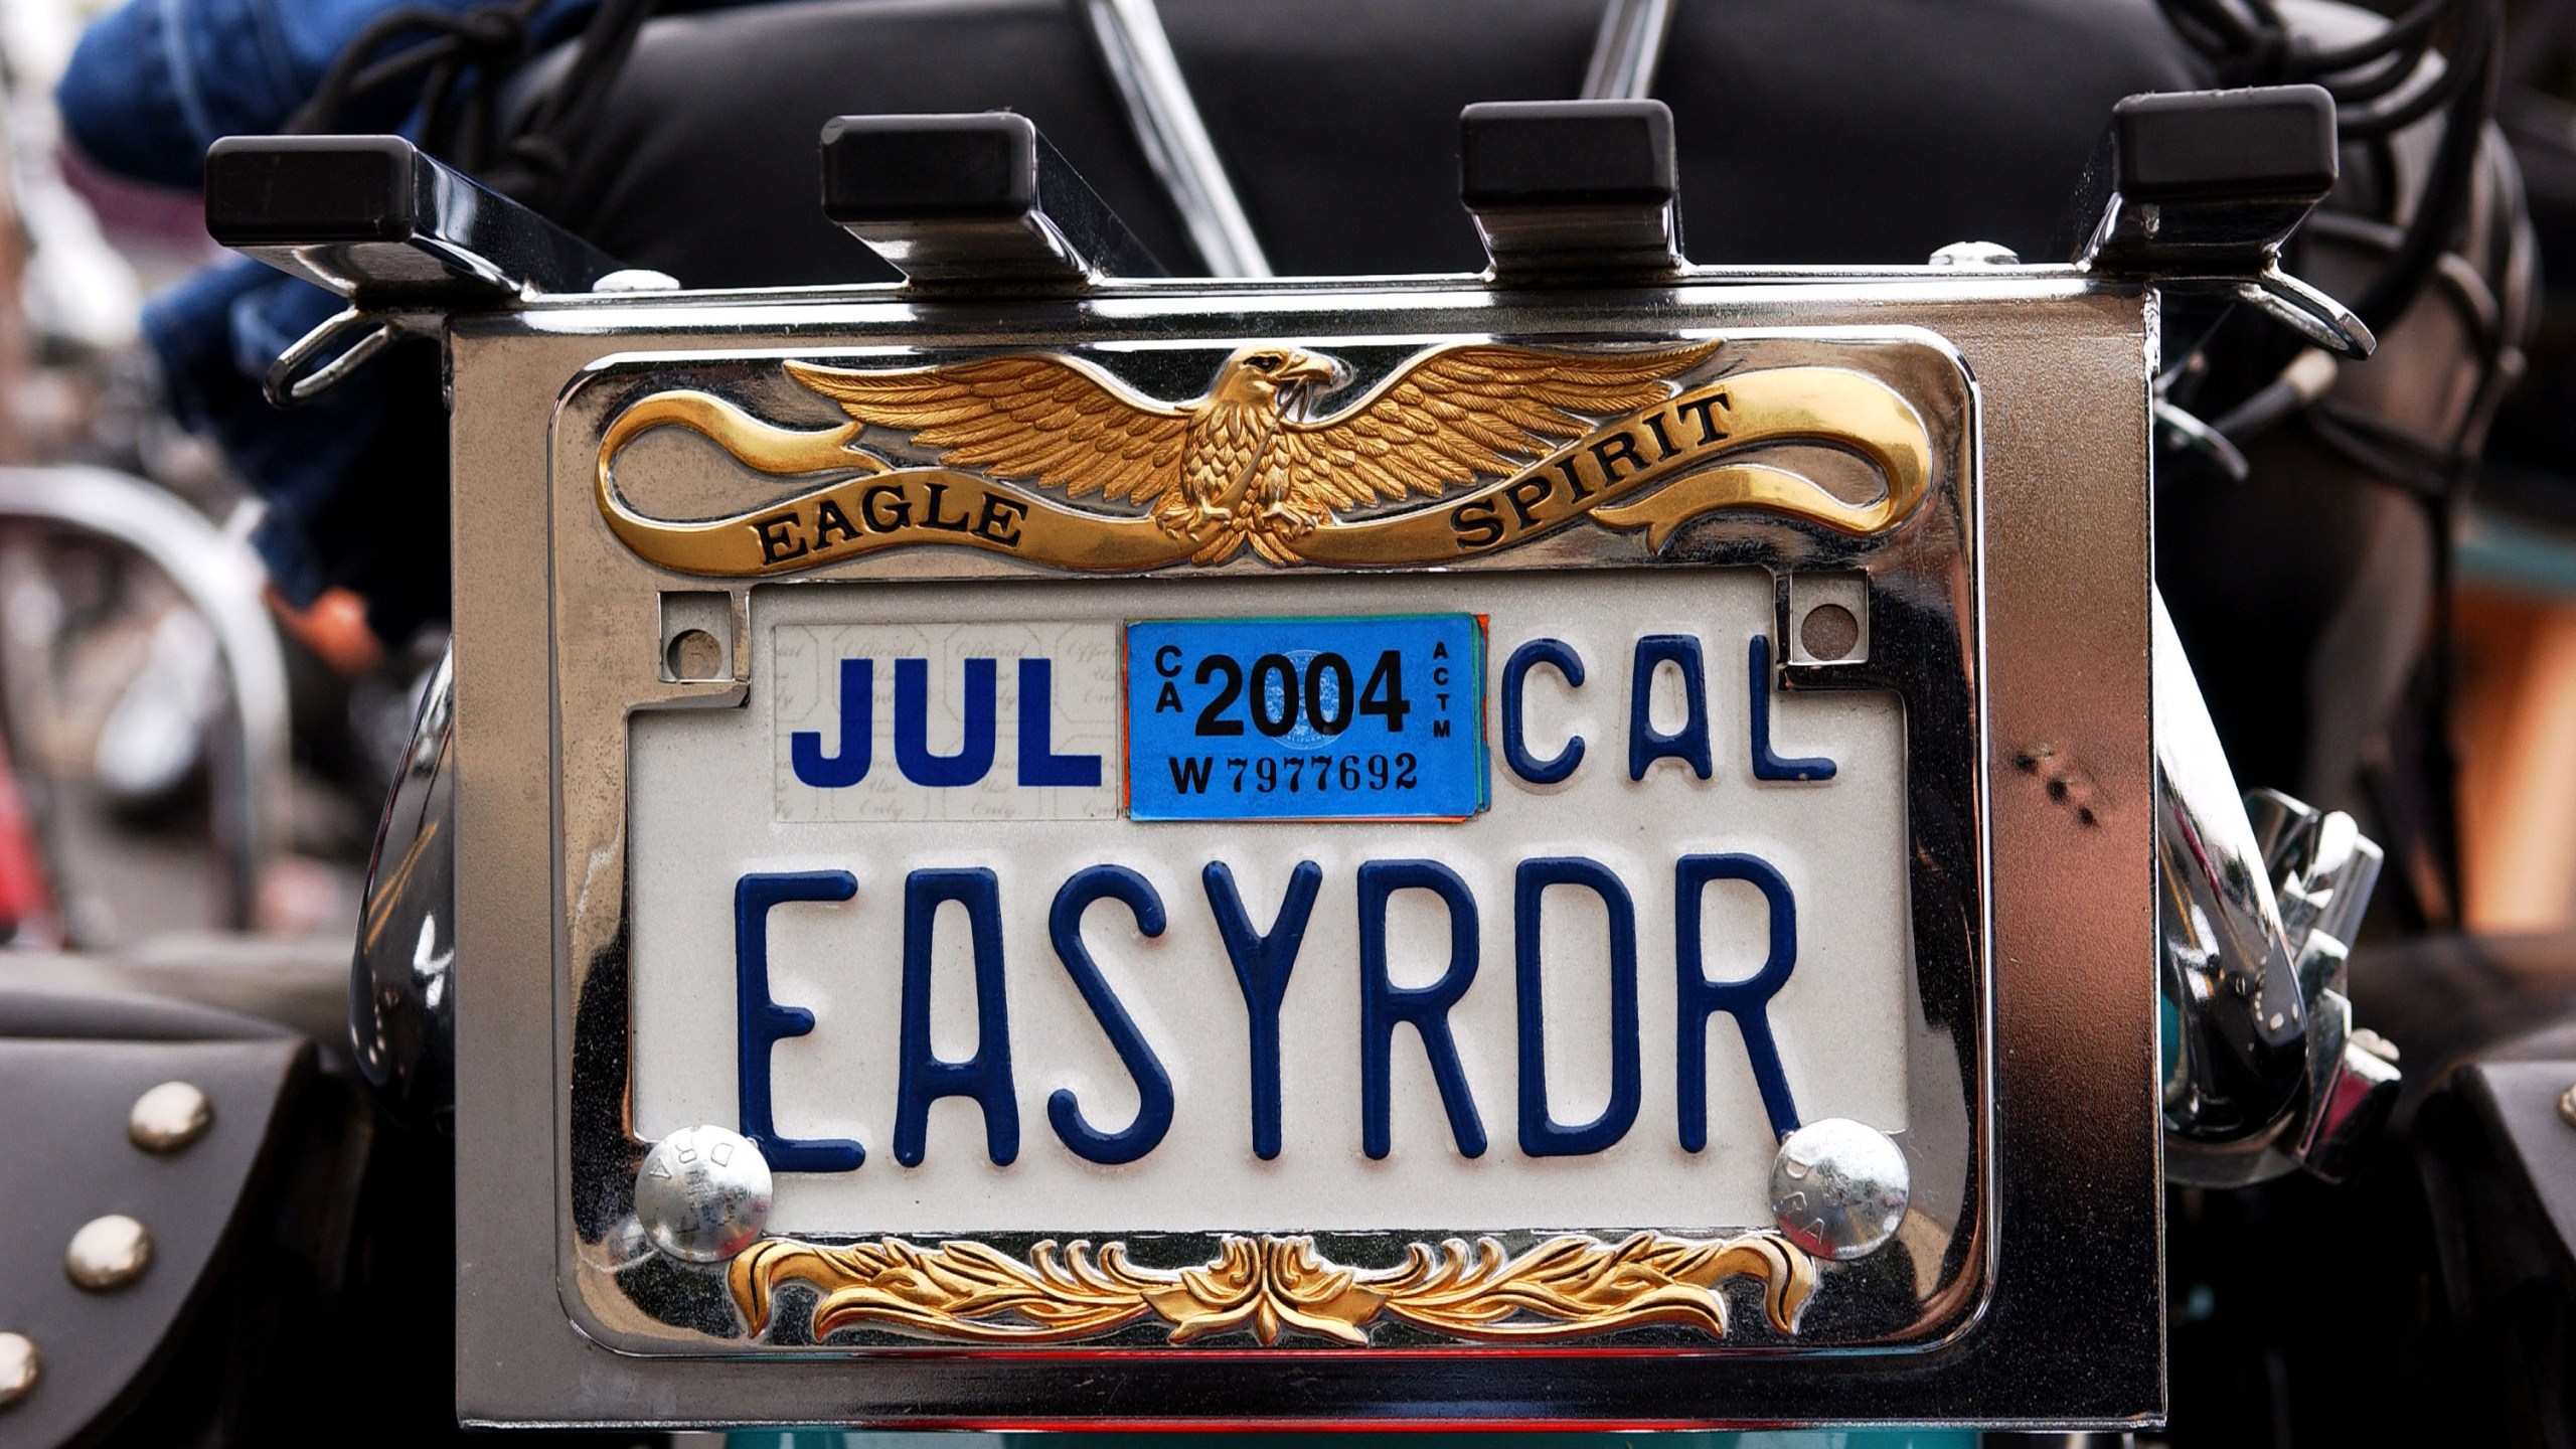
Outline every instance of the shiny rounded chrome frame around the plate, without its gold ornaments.
[[[1252, 302], [1249, 307], [1257, 307]], [[1247, 312], [1249, 312], [1247, 307]], [[963, 315], [966, 307], [958, 307]], [[1394, 312], [1394, 315], [1388, 315]], [[997, 320], [1010, 317], [997, 315]], [[1154, 327], [1151, 358], [1180, 374], [1213, 374], [1226, 353], [1244, 335], [1260, 335], [1257, 315], [1198, 317], [1190, 333], [1164, 322]], [[1522, 327], [1492, 320], [1492, 333], [1458, 335], [1432, 330], [1427, 320], [1404, 317], [1394, 307], [1350, 304], [1329, 335], [1345, 353], [1355, 343], [1378, 343], [1376, 369], [1391, 369], [1422, 340], [1530, 340], [1530, 343], [1587, 343], [1587, 340], [1677, 340], [1685, 327], [1718, 327], [1723, 312], [1708, 309], [1698, 320], [1656, 315], [1656, 322], [1618, 333], [1602, 330], [1584, 315], [1548, 320], [1533, 309]], [[956, 317], [951, 327], [958, 327]], [[1136, 353], [1115, 345], [1128, 333], [1095, 325], [1087, 338], [1048, 338], [1033, 330], [1025, 315], [1007, 320], [1010, 348], [1028, 353], [1059, 345], [1082, 361], [1103, 369], [1141, 366]], [[1450, 322], [1453, 327], [1455, 322]], [[868, 348], [902, 340], [904, 361], [943, 361], [976, 356], [976, 338], [948, 333], [925, 335], [922, 327], [891, 330], [842, 325], [822, 338], [778, 338], [783, 356], [801, 361], [863, 366]], [[1386, 345], [1381, 338], [1399, 338]], [[1986, 1098], [1978, 1080], [1978, 1055], [1984, 1039], [1984, 931], [1981, 931], [1981, 871], [1940, 869], [1932, 861], [1973, 861], [1978, 846], [1978, 706], [1976, 706], [1976, 536], [1981, 529], [1976, 508], [1978, 459], [1973, 449], [1978, 413], [1976, 392], [1958, 353], [1937, 335], [1919, 327], [1723, 327], [1723, 348], [1680, 384], [1705, 384], [1728, 374], [1757, 376], [1770, 366], [1839, 366], [1862, 371], [1873, 382], [1901, 394], [1929, 428], [1932, 477], [1924, 500], [1901, 521], [1875, 536], [1844, 534], [1811, 521], [1790, 521], [1775, 513], [1736, 511], [1682, 526], [1669, 544], [1654, 547], [1646, 534], [1610, 531], [1592, 523], [1571, 526], [1561, 534], [1497, 549], [1484, 557], [1448, 562], [1445, 580], [1494, 578], [1517, 570], [1713, 570], [1757, 567], [1770, 572], [1775, 596], [1772, 639], [1790, 637], [1790, 580], [1814, 575], [1844, 575], [1865, 583], [1865, 614], [1870, 621], [1868, 657], [1834, 663], [1777, 665], [1783, 688], [1829, 691], [1865, 688], [1888, 691], [1904, 701], [1906, 750], [1906, 825], [1909, 851], [1909, 926], [1914, 954], [1904, 962], [1906, 977], [1906, 1132], [1917, 1160], [1911, 1171], [1909, 1238], [1914, 1269], [1886, 1276], [1839, 1276], [1819, 1289], [1819, 1302], [1842, 1294], [1839, 1318], [1844, 1328], [1832, 1328], [1819, 1310], [1795, 1338], [1759, 1336], [1752, 1323], [1739, 1323], [1741, 1338], [1716, 1348], [1741, 1354], [1747, 1346], [1765, 1354], [1777, 1351], [1919, 1351], [1940, 1343], [1958, 1328], [1960, 1315], [1973, 1312], [1986, 1274], [1989, 1232], [1984, 1230], [1989, 1163]], [[636, 559], [626, 544], [600, 526], [592, 490], [592, 464], [611, 423], [629, 405], [636, 405], [652, 387], [670, 376], [688, 376], [690, 387], [734, 400], [760, 415], [786, 402], [791, 384], [778, 369], [781, 351], [719, 345], [716, 351], [665, 351], [636, 345], [634, 351], [605, 356], [562, 387], [554, 415], [554, 639], [567, 663], [554, 686], [554, 737], [567, 755], [590, 761], [577, 771], [564, 771], [556, 781], [562, 810], [556, 835], [556, 869], [564, 892], [556, 900], [556, 920], [564, 931], [564, 962], [572, 969], [574, 1021], [572, 1060], [585, 1062], [567, 1083], [567, 1093], [585, 1101], [626, 1101], [629, 1080], [623, 1065], [605, 1070], [618, 1044], [631, 1031], [629, 972], [629, 902], [616, 884], [626, 871], [629, 838], [629, 722], [659, 709], [734, 706], [747, 699], [747, 688], [760, 657], [757, 639], [773, 629], [775, 619], [791, 616], [799, 606], [814, 606], [840, 593], [842, 616], [868, 616], [881, 608], [914, 606], [917, 598], [938, 598], [940, 583], [971, 583], [974, 588], [1010, 588], [1025, 596], [1030, 616], [1072, 608], [1048, 603], [1056, 593], [1126, 593], [1136, 598], [1128, 616], [1139, 616], [1141, 596], [1170, 590], [1190, 575], [1193, 580], [1224, 580], [1236, 596], [1236, 608], [1247, 611], [1311, 611], [1329, 601], [1334, 608], [1352, 601], [1373, 601], [1363, 608], [1399, 611], [1394, 593], [1399, 585], [1419, 583], [1422, 567], [1401, 570], [1324, 570], [1278, 567], [1242, 554], [1218, 567], [1159, 570], [1131, 578], [1069, 578], [1061, 570], [1036, 567], [1020, 559], [966, 549], [886, 552], [850, 562], [824, 565], [778, 580], [693, 580], [701, 588], [724, 583], [734, 601], [734, 650], [729, 678], [719, 681], [665, 681], [659, 668], [621, 668], [621, 660], [654, 665], [662, 657], [659, 634], [636, 639], [631, 647], [611, 619], [659, 627], [652, 608], [639, 608], [659, 588], [670, 588], [665, 575]], [[1378, 382], [1358, 376], [1350, 392], [1365, 394]], [[1747, 387], [1752, 387], [1747, 382]], [[580, 462], [577, 462], [580, 459]], [[636, 467], [636, 464], [629, 464]], [[690, 516], [703, 516], [696, 498], [721, 498], [737, 487], [742, 474], [732, 467], [690, 464], [685, 469], [641, 472], [636, 487], [657, 490], [662, 498], [690, 498]], [[685, 492], [683, 492], [685, 490]], [[626, 603], [621, 608], [621, 603]], [[649, 619], [652, 616], [652, 619]], [[1775, 647], [1770, 657], [1788, 655]], [[471, 918], [461, 926], [471, 928]], [[616, 959], [616, 967], [611, 967]], [[1940, 1142], [1942, 1147], [1927, 1147]], [[623, 1235], [623, 1222], [634, 1212], [629, 1194], [634, 1173], [652, 1147], [639, 1140], [626, 1116], [582, 1111], [569, 1134], [567, 1191], [580, 1204], [562, 1225], [567, 1243], [559, 1248], [564, 1263], [567, 1307], [585, 1333], [631, 1354], [739, 1354], [762, 1356], [819, 1354], [848, 1359], [884, 1356], [938, 1348], [920, 1333], [860, 1330], [835, 1336], [822, 1346], [801, 1343], [744, 1343], [737, 1333], [711, 1325], [698, 1307], [688, 1281], [670, 1274], [636, 1276], [603, 1263], [621, 1263], [611, 1250]], [[577, 1189], [569, 1183], [592, 1183]], [[1383, 1230], [1319, 1232], [1319, 1245], [1334, 1261], [1352, 1266], [1401, 1263], [1409, 1243], [1437, 1243], [1445, 1235], [1476, 1235], [1499, 1230], [1502, 1240], [1520, 1250], [1535, 1245], [1530, 1230], [1610, 1230], [1610, 1227], [1692, 1227], [1739, 1232], [1767, 1227], [1767, 1222], [1700, 1222], [1662, 1225], [1631, 1222], [1620, 1209], [1605, 1204], [1600, 1222], [1419, 1222], [1406, 1220], [1401, 1204], [1388, 1204]], [[860, 1230], [863, 1225], [850, 1225]], [[1133, 1230], [1128, 1222], [1048, 1222], [1051, 1235], [1115, 1240]], [[1007, 1245], [1010, 1235], [943, 1232], [925, 1240], [976, 1240]], [[1195, 1261], [1221, 1250], [1221, 1232], [1154, 1232], [1164, 1253]], [[1378, 1338], [1378, 1346], [1443, 1346], [1458, 1354], [1476, 1354], [1466, 1341], [1445, 1336]], [[1607, 1343], [1698, 1348], [1687, 1336], [1669, 1328], [1625, 1330]], [[1121, 1333], [1100, 1346], [1157, 1354], [1170, 1351], [1167, 1338], [1151, 1333]], [[1239, 1354], [1255, 1343], [1221, 1341], [1190, 1346], [1193, 1351]], [[1010, 1354], [1007, 1346], [992, 1348]]]

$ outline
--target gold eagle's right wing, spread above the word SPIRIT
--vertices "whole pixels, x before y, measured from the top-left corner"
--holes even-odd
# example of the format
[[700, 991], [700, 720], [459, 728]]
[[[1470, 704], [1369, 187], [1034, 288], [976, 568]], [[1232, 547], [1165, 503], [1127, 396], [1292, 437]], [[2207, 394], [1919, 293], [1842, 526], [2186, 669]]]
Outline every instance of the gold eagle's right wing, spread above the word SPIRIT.
[[1280, 498], [1332, 508], [1437, 495], [1510, 474], [1592, 418], [1651, 407], [1718, 343], [1636, 353], [1548, 353], [1499, 343], [1437, 348], [1332, 418], [1291, 423], [1267, 467]]

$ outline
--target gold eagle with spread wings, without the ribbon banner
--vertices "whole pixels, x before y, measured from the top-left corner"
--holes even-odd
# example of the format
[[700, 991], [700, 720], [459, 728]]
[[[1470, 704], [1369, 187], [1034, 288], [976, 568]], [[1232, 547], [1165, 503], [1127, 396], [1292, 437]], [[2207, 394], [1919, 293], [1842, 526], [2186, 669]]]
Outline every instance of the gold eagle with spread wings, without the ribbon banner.
[[1548, 353], [1502, 343], [1432, 348], [1347, 407], [1311, 415], [1350, 379], [1327, 353], [1239, 348], [1190, 402], [1159, 402], [1069, 358], [1012, 353], [969, 364], [853, 371], [786, 364], [863, 428], [912, 433], [940, 464], [1149, 508], [1190, 559], [1291, 544], [1334, 511], [1440, 495], [1510, 474], [1595, 428], [1595, 418], [1674, 397], [1669, 382], [1718, 343]]

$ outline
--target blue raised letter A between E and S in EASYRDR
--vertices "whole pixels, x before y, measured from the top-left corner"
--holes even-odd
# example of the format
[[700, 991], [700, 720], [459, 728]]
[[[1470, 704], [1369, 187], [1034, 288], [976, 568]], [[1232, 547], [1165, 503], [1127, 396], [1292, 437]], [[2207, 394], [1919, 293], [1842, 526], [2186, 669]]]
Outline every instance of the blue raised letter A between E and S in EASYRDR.
[[[904, 660], [914, 663], [914, 660]], [[992, 665], [992, 660], [981, 660]], [[930, 928], [940, 902], [966, 908], [974, 938], [974, 1057], [943, 1062], [930, 1049]], [[987, 869], [904, 877], [904, 1034], [894, 1088], [894, 1160], [922, 1165], [930, 1104], [971, 1096], [984, 1109], [984, 1150], [994, 1163], [1020, 1155], [1020, 1101], [1010, 1085], [1010, 1006], [1002, 998], [1002, 882]]]

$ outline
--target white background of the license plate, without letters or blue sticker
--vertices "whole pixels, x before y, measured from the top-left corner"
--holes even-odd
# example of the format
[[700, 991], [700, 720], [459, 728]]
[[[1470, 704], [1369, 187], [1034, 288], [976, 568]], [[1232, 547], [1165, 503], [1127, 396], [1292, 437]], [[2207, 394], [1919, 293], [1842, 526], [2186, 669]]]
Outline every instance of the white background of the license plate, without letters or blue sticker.
[[[1430, 614], [1489, 619], [1486, 735], [1497, 740], [1489, 812], [1466, 822], [1131, 822], [1095, 812], [1079, 792], [1041, 810], [969, 799], [920, 810], [889, 802], [793, 802], [786, 732], [814, 727], [832, 696], [835, 645], [878, 655], [912, 629], [925, 650], [987, 652], [1002, 624], [1090, 647], [1126, 619]], [[1383, 580], [1146, 580], [1051, 585], [762, 588], [752, 596], [752, 688], [742, 709], [657, 712], [631, 732], [631, 1011], [634, 1129], [737, 1122], [734, 879], [744, 871], [845, 869], [858, 897], [770, 913], [770, 990], [817, 1026], [775, 1044], [775, 1127], [786, 1137], [853, 1137], [853, 1173], [781, 1173], [773, 1232], [1149, 1232], [1368, 1227], [1741, 1227], [1770, 1220], [1767, 1127], [1741, 1039], [1708, 1018], [1708, 1147], [1680, 1147], [1674, 1106], [1674, 890], [1682, 853], [1749, 851], [1788, 879], [1798, 902], [1798, 964], [1770, 1003], [1798, 1111], [1906, 1127], [1901, 1024], [1911, 972], [1901, 706], [1891, 694], [1772, 699], [1780, 755], [1837, 761], [1832, 781], [1757, 781], [1749, 766], [1747, 639], [1767, 632], [1772, 583], [1759, 570], [1489, 572]], [[969, 629], [956, 629], [956, 627]], [[842, 632], [842, 627], [850, 627]], [[1680, 761], [1628, 779], [1631, 655], [1641, 634], [1698, 634], [1708, 657], [1713, 779]], [[1574, 645], [1587, 683], [1533, 670], [1530, 750], [1569, 735], [1587, 758], [1558, 786], [1530, 786], [1502, 761], [1494, 686], [1502, 660], [1533, 637]], [[1046, 645], [1054, 647], [1054, 645]], [[878, 665], [884, 673], [884, 665]], [[1064, 665], [1059, 665], [1059, 678]], [[933, 701], [953, 670], [933, 665]], [[1672, 670], [1659, 727], [1682, 719]], [[876, 758], [891, 773], [886, 681], [878, 678]], [[994, 776], [1012, 766], [1012, 681], [1005, 665]], [[1110, 699], [1110, 709], [1118, 701]], [[783, 719], [786, 714], [786, 719]], [[827, 709], [824, 719], [832, 717]], [[1118, 735], [1105, 743], [1064, 706], [1056, 753], [1105, 750], [1115, 784]], [[948, 730], [943, 735], [943, 730]], [[827, 735], [829, 740], [829, 735]], [[956, 748], [938, 722], [935, 750]], [[873, 776], [871, 776], [873, 779]], [[860, 817], [878, 815], [878, 817]], [[896, 820], [881, 815], [899, 815]], [[1015, 817], [1018, 815], [1018, 817]], [[1056, 815], [1056, 817], [1025, 817]], [[1643, 1104], [1620, 1142], [1582, 1158], [1528, 1158], [1517, 1145], [1517, 1008], [1512, 871], [1533, 856], [1592, 856], [1636, 902]], [[1267, 928], [1298, 861], [1316, 861], [1314, 905], [1280, 1011], [1283, 1150], [1260, 1160], [1249, 1140], [1244, 1003], [1200, 887], [1226, 861], [1255, 926]], [[1409, 1029], [1394, 1042], [1391, 1152], [1360, 1150], [1360, 987], [1355, 871], [1370, 859], [1435, 859], [1476, 895], [1481, 967], [1450, 1011], [1489, 1150], [1458, 1155], [1430, 1065]], [[1082, 866], [1121, 864], [1162, 895], [1170, 926], [1136, 933], [1126, 908], [1095, 905], [1084, 938], [1162, 1057], [1175, 1085], [1172, 1129], [1128, 1165], [1077, 1158], [1048, 1127], [1046, 1101], [1072, 1088], [1103, 1132], [1121, 1129], [1136, 1091], [1059, 964], [1046, 931], [1056, 887]], [[969, 1098], [930, 1109], [927, 1155], [894, 1160], [902, 882], [912, 869], [989, 866], [1002, 882], [1010, 1047], [1020, 1155], [994, 1165]], [[1589, 1122], [1610, 1096], [1607, 918], [1579, 890], [1546, 897], [1548, 1088], [1556, 1122]], [[1713, 980], [1759, 967], [1762, 897], [1708, 887], [1703, 954]], [[1448, 923], [1422, 892], [1399, 892], [1388, 920], [1396, 985], [1427, 985], [1448, 964]], [[963, 915], [943, 908], [933, 957], [933, 1044], [945, 1060], [976, 1049], [976, 1000]], [[1904, 1140], [1904, 1137], [1899, 1137]]]

